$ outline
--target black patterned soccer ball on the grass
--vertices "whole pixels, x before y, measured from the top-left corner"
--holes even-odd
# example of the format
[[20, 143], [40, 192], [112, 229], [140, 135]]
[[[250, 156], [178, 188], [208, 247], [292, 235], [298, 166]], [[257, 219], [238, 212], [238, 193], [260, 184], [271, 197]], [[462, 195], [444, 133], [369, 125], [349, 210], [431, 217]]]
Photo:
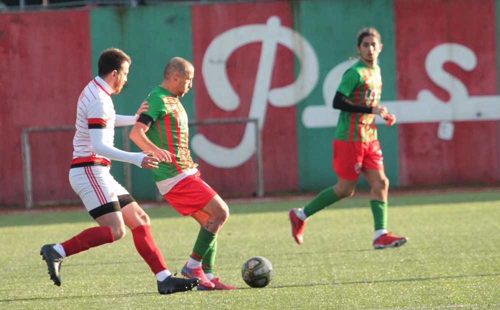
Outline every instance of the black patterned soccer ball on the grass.
[[241, 267], [241, 276], [251, 287], [264, 287], [272, 279], [272, 264], [262, 256], [250, 257]]

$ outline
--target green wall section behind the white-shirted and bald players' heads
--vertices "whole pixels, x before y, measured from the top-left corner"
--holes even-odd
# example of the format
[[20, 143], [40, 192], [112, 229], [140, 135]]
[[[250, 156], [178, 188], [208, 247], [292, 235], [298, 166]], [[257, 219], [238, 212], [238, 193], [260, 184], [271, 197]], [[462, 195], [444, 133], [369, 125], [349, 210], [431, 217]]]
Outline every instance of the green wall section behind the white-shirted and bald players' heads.
[[[180, 56], [192, 62], [191, 14], [189, 5], [136, 8], [96, 8], [90, 11], [92, 72], [97, 75], [97, 59], [108, 47], [127, 53], [132, 64], [127, 83], [113, 95], [118, 114], [131, 115], [149, 91], [161, 83], [166, 62]], [[188, 117], [194, 118], [193, 91], [182, 97]], [[192, 134], [192, 133], [191, 133]], [[121, 129], [116, 130], [115, 145], [122, 148]], [[133, 151], [139, 151], [130, 141]], [[115, 162], [113, 176], [123, 183], [123, 165]], [[132, 195], [154, 199], [156, 186], [151, 172], [132, 165]]]

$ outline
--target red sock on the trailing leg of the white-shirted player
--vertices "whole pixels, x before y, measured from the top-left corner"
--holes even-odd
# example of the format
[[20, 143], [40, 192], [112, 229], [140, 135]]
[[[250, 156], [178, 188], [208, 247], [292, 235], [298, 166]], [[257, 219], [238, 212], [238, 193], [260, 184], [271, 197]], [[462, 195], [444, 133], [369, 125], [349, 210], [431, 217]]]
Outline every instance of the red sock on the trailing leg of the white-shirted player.
[[69, 240], [61, 243], [66, 256], [85, 251], [90, 247], [99, 246], [114, 241], [111, 228], [98, 226], [83, 230]]

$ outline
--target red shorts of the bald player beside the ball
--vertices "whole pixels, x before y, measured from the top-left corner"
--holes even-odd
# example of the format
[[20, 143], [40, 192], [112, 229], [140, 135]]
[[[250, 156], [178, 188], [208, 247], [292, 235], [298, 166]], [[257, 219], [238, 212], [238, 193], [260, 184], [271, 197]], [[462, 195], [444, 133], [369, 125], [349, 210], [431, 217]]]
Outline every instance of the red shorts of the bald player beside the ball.
[[166, 201], [182, 215], [191, 215], [205, 206], [217, 193], [199, 177], [200, 173], [181, 179], [166, 194]]

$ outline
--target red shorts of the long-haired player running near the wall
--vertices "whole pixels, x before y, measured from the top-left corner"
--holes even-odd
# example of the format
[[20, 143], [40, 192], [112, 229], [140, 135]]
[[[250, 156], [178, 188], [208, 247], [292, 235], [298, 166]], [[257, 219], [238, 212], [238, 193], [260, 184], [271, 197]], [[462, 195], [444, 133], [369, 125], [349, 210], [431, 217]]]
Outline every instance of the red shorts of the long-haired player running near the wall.
[[378, 140], [371, 142], [333, 140], [333, 170], [338, 177], [357, 180], [361, 169], [383, 171], [382, 150]]

